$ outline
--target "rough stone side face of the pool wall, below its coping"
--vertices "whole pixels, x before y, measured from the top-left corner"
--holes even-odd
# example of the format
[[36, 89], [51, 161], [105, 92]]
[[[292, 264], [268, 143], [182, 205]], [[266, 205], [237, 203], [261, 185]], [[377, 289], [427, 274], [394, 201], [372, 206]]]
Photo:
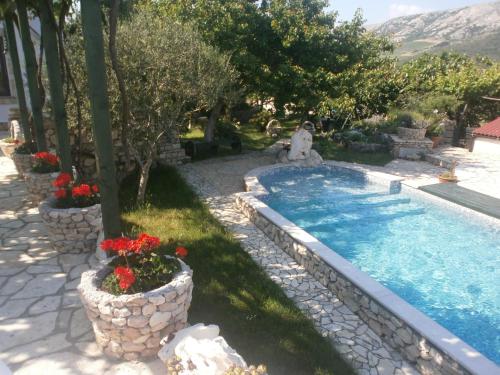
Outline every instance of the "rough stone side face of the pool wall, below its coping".
[[471, 374], [401, 318], [371, 298], [348, 277], [326, 263], [316, 252], [265, 217], [255, 208], [256, 204], [262, 203], [252, 203], [252, 199], [257, 201], [248, 193], [238, 196], [237, 205], [242, 212], [280, 248], [303, 265], [316, 280], [334, 292], [377, 335], [403, 354], [423, 375]]

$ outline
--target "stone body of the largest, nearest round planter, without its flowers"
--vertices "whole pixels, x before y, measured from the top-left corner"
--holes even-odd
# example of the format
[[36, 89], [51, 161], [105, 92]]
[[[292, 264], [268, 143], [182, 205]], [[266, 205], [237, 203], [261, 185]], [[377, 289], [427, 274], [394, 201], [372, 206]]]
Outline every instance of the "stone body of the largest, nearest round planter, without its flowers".
[[191, 304], [191, 269], [181, 261], [182, 270], [158, 289], [114, 296], [100, 290], [110, 268], [86, 271], [78, 291], [92, 322], [97, 345], [108, 356], [136, 360], [157, 355], [160, 340], [183, 329]]

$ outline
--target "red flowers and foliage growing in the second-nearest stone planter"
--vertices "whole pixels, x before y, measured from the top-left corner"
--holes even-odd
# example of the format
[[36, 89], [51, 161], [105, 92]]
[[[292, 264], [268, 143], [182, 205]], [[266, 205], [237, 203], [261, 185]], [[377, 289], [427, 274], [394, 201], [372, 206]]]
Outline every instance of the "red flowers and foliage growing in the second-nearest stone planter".
[[61, 172], [52, 185], [57, 188], [54, 192], [57, 208], [89, 207], [99, 203], [99, 187], [77, 184], [69, 173]]

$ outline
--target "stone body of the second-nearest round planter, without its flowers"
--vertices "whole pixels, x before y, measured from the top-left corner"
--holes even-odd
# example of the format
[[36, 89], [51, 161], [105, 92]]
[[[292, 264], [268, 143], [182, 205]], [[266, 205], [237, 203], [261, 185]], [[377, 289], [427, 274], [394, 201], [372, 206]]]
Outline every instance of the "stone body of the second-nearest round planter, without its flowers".
[[38, 206], [55, 250], [67, 253], [95, 251], [102, 230], [101, 205], [84, 208], [55, 208], [55, 198]]

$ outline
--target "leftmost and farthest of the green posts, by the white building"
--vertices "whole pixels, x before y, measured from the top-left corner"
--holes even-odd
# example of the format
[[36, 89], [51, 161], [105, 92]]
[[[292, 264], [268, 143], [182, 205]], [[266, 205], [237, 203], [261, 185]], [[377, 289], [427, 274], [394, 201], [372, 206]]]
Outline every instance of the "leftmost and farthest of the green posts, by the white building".
[[31, 138], [31, 129], [29, 124], [28, 107], [26, 105], [26, 96], [24, 93], [23, 76], [21, 75], [21, 65], [19, 63], [19, 54], [17, 52], [16, 32], [14, 22], [11, 16], [5, 17], [5, 33], [9, 44], [9, 55], [12, 61], [12, 70], [14, 71], [14, 80], [16, 82], [17, 103], [19, 104], [19, 113], [21, 115], [21, 127], [23, 128], [24, 141], [33, 142]]

